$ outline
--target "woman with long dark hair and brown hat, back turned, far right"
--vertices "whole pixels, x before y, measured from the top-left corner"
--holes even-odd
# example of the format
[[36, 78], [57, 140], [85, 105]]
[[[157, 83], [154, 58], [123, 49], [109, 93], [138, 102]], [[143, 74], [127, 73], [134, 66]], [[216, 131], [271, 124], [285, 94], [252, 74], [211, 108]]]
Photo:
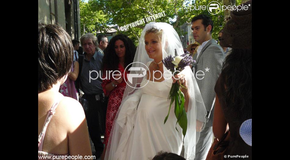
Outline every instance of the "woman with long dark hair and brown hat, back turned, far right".
[[[248, 4], [252, 1], [244, 6]], [[252, 159], [252, 146], [244, 142], [239, 132], [241, 124], [252, 119], [252, 6], [242, 12], [231, 11], [230, 15], [220, 45], [233, 50], [227, 55], [216, 82], [212, 130], [219, 141], [228, 143], [228, 147], [220, 152], [228, 155], [226, 159], [234, 159], [233, 155], [247, 155]], [[217, 155], [210, 151], [209, 160]]]

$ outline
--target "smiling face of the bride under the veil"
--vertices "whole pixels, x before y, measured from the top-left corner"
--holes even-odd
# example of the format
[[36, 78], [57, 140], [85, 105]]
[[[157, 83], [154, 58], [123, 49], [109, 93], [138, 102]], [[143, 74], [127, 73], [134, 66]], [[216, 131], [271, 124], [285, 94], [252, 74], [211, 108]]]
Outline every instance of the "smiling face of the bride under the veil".
[[158, 34], [148, 33], [145, 35], [145, 50], [151, 59], [162, 59], [161, 38]]

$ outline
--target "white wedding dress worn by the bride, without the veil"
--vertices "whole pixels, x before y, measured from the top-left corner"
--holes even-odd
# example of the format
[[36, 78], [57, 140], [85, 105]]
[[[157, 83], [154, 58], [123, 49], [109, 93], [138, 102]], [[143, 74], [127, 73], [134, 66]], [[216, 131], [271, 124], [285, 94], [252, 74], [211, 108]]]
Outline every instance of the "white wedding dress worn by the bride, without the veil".
[[167, 98], [171, 85], [171, 77], [162, 82], [153, 82], [144, 76], [140, 85], [142, 88], [126, 99], [116, 119], [117, 123], [125, 124], [125, 131], [122, 131], [117, 152], [112, 159], [148, 160], [159, 151], [180, 155], [183, 134], [179, 124], [176, 125], [174, 103], [164, 124], [169, 111], [170, 101]]

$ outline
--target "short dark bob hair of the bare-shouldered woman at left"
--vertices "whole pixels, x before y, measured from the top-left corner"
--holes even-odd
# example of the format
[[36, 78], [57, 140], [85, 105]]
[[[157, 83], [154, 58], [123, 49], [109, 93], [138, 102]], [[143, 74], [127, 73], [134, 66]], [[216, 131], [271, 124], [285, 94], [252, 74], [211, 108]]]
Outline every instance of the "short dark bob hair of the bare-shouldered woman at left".
[[38, 24], [38, 93], [71, 71], [73, 50], [71, 37], [62, 27]]

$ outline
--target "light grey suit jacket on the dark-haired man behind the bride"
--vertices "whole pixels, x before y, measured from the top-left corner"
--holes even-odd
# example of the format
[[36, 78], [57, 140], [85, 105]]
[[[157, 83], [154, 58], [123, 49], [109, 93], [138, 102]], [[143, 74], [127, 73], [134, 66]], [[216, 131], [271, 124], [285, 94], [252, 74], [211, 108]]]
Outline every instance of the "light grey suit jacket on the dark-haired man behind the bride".
[[[197, 54], [195, 54], [193, 59], [196, 60], [196, 62], [192, 63], [193, 67], [191, 70], [194, 73], [194, 78], [198, 83], [201, 97], [205, 103], [208, 117], [208, 122], [205, 126], [209, 127], [212, 126], [215, 107], [216, 92], [214, 88], [219, 78], [219, 74], [221, 73], [221, 67], [224, 61], [223, 49], [219, 44], [216, 44], [214, 39], [211, 39], [202, 48], [199, 56], [197, 57]], [[208, 72], [205, 72], [206, 68], [209, 69]], [[203, 75], [203, 73], [204, 76], [199, 76]], [[197, 115], [197, 119], [202, 121], [202, 116], [203, 115]]]

